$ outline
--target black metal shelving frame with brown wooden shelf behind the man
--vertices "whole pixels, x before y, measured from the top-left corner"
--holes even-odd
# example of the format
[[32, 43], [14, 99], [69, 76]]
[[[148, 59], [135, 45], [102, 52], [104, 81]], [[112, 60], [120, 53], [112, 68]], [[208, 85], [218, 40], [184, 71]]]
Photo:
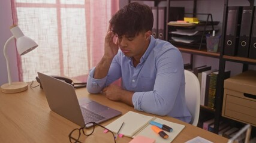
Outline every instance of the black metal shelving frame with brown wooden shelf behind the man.
[[[136, 0], [135, 0], [136, 1]], [[137, 0], [137, 1], [143, 1], [143, 0]], [[148, 0], [147, 0], [148, 1]], [[159, 2], [161, 0], [152, 0], [155, 2], [155, 6], [157, 7]], [[170, 8], [170, 1], [178, 1], [178, 0], [162, 0], [167, 2], [167, 18], [165, 23], [165, 40], [168, 41], [168, 30], [169, 26], [167, 25], [168, 21], [168, 11]], [[197, 0], [190, 0], [193, 1], [193, 13], [197, 13]], [[250, 6], [254, 5], [254, 0], [242, 0], [242, 1], [249, 1]], [[131, 2], [129, 0], [129, 2]], [[180, 50], [180, 52], [188, 53], [191, 55], [190, 57], [190, 67], [193, 67], [193, 60], [194, 55], [201, 55], [205, 57], [212, 57], [212, 58], [218, 58], [219, 59], [219, 76], [218, 76], [218, 84], [216, 87], [216, 95], [215, 95], [215, 110], [205, 107], [203, 105], [200, 106], [201, 110], [206, 110], [209, 112], [212, 112], [215, 117], [215, 127], [214, 127], [214, 133], [218, 133], [219, 130], [219, 122], [222, 118], [221, 112], [222, 112], [222, 101], [223, 101], [223, 93], [224, 93], [224, 71], [225, 71], [225, 63], [226, 61], [232, 61], [235, 63], [242, 63], [243, 64], [243, 71], [248, 70], [248, 65], [254, 65], [256, 66], [256, 60], [251, 58], [243, 58], [243, 57], [234, 57], [234, 56], [228, 56], [224, 55], [224, 39], [225, 39], [225, 29], [226, 29], [226, 20], [227, 20], [227, 7], [228, 7], [228, 0], [224, 0], [224, 13], [223, 13], [223, 20], [222, 20], [222, 38], [221, 38], [221, 45], [219, 47], [219, 52], [207, 52], [206, 49], [195, 49], [195, 48], [185, 48], [183, 46], [177, 46], [177, 48]], [[193, 15], [194, 16], [194, 15]]]

